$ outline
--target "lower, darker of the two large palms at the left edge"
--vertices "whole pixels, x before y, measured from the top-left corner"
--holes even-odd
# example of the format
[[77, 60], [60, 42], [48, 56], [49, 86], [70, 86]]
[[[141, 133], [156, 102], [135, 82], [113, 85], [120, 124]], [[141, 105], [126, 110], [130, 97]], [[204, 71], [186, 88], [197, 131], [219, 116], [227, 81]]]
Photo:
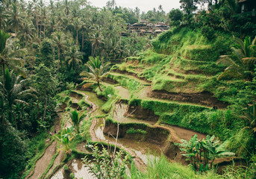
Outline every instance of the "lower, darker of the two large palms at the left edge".
[[[15, 126], [16, 124], [16, 117], [13, 111], [13, 104], [26, 104], [27, 102], [23, 101], [22, 98], [25, 98], [28, 95], [32, 95], [32, 92], [35, 90], [31, 87], [24, 88], [29, 79], [21, 79], [21, 76], [15, 76], [13, 71], [9, 72], [9, 69], [5, 69], [4, 72], [4, 83], [0, 82], [0, 93], [1, 96], [4, 97], [4, 100], [7, 101], [7, 107], [9, 110], [9, 122], [12, 122], [14, 119]], [[33, 95], [35, 96], [35, 95]]]

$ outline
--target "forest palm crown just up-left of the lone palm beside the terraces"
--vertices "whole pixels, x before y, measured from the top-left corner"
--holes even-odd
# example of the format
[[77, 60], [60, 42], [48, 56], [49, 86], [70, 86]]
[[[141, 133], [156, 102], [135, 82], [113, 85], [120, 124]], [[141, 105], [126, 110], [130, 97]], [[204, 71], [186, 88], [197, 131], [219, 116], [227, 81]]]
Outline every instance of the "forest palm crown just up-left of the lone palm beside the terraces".
[[74, 69], [75, 65], [78, 63], [82, 63], [81, 58], [83, 57], [81, 52], [78, 51], [78, 48], [73, 45], [69, 48], [69, 51], [66, 51], [66, 58], [65, 60], [71, 65], [71, 68]]

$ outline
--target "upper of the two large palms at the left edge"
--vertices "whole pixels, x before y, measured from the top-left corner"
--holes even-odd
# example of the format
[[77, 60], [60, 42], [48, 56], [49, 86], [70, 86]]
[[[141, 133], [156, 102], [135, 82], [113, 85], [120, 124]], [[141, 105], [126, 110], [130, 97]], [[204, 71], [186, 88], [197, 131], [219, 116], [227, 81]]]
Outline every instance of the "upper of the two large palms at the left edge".
[[4, 72], [6, 66], [15, 69], [19, 75], [26, 76], [25, 72], [19, 68], [19, 66], [23, 66], [25, 63], [20, 58], [23, 54], [25, 54], [25, 50], [16, 49], [16, 44], [10, 39], [10, 35], [0, 30], [0, 65], [2, 67], [3, 79], [5, 79]]

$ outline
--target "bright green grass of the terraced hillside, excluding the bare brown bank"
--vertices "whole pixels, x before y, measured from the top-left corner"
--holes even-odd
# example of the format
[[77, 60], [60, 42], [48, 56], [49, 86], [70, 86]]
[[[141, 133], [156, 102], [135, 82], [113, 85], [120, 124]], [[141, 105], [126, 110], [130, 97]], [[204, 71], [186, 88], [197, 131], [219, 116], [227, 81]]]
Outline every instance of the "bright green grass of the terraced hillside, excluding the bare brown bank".
[[[152, 41], [152, 50], [138, 57], [129, 57], [126, 63], [113, 66], [109, 78], [114, 79], [131, 93], [143, 89], [141, 80], [152, 83], [152, 90], [167, 92], [211, 92], [220, 101], [232, 104], [234, 96], [243, 88], [243, 81], [217, 81], [225, 69], [217, 65], [219, 55], [231, 54], [230, 34], [216, 34], [207, 40], [200, 31], [184, 28], [167, 31]], [[126, 75], [127, 73], [131, 75]], [[145, 84], [144, 84], [145, 87]], [[154, 110], [161, 122], [214, 134], [220, 139], [229, 139], [244, 125], [231, 110], [211, 110], [195, 104], [147, 98], [146, 95], [131, 95], [130, 104]]]

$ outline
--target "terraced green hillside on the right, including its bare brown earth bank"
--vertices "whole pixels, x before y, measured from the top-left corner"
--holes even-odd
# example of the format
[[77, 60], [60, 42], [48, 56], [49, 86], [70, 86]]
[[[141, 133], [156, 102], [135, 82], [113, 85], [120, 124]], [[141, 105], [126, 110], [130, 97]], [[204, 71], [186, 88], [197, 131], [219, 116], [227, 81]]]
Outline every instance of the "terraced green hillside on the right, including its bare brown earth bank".
[[231, 148], [246, 151], [241, 146], [249, 144], [251, 134], [242, 145], [237, 142], [246, 122], [234, 110], [245, 81], [218, 80], [227, 66], [216, 63], [222, 55], [233, 57], [233, 37], [224, 33], [213, 37], [208, 40], [200, 30], [190, 28], [167, 31], [152, 40], [151, 50], [113, 66], [107, 78], [132, 93], [129, 112], [137, 107], [136, 118], [223, 140], [232, 137]]

